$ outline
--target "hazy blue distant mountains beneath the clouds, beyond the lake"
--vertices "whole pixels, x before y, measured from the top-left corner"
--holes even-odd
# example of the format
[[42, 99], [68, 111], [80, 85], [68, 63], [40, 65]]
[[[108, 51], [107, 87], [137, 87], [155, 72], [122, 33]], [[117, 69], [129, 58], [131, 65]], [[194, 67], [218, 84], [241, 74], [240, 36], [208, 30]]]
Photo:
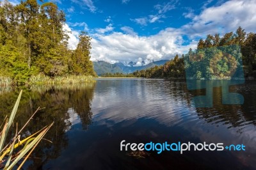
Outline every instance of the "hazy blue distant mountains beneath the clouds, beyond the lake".
[[93, 67], [97, 75], [102, 75], [103, 73], [132, 73], [136, 70], [145, 70], [147, 68], [151, 68], [154, 66], [164, 65], [168, 60], [160, 60], [160, 61], [153, 61], [148, 65], [143, 66], [134, 66], [136, 63], [130, 62], [127, 65], [124, 63], [108, 63], [106, 61], [93, 61]]

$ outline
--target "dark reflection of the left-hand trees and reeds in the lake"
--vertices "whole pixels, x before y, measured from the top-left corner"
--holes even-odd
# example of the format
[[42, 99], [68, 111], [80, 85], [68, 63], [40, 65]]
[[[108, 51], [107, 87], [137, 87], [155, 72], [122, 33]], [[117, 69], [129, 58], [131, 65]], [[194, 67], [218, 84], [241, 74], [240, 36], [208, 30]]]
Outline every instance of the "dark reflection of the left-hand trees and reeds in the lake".
[[[76, 123], [82, 123], [87, 129], [91, 123], [91, 102], [95, 83], [67, 86], [40, 86], [24, 88], [15, 121], [24, 125], [38, 107], [45, 107], [35, 114], [33, 120], [24, 129], [23, 137], [40, 130], [54, 121], [54, 125], [45, 135], [52, 143], [44, 141], [36, 148], [35, 155], [29, 160], [26, 169], [40, 169], [51, 159], [58, 158], [68, 146], [66, 132]], [[6, 114], [12, 111], [20, 89], [0, 94], [0, 123]], [[77, 122], [78, 121], [78, 122]]]

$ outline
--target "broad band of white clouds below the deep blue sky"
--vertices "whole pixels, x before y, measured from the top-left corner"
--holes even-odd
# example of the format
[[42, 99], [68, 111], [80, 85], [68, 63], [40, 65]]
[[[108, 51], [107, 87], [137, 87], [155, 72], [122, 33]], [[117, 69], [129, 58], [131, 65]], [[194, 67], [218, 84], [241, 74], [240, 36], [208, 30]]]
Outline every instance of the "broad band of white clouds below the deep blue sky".
[[[116, 32], [113, 25], [109, 24], [105, 28], [96, 29], [91, 35], [92, 60], [111, 63], [134, 61], [138, 66], [143, 61], [170, 59], [175, 54], [188, 52], [189, 48], [195, 49], [198, 38], [204, 38], [207, 34], [223, 35], [235, 31], [238, 26], [247, 32], [255, 32], [255, 9], [256, 1], [228, 1], [220, 6], [205, 8], [199, 15], [191, 16], [191, 22], [180, 28], [168, 27], [151, 36], [139, 36], [128, 26], [120, 28], [122, 33]], [[77, 32], [73, 31], [72, 35], [70, 43], [77, 44]]]

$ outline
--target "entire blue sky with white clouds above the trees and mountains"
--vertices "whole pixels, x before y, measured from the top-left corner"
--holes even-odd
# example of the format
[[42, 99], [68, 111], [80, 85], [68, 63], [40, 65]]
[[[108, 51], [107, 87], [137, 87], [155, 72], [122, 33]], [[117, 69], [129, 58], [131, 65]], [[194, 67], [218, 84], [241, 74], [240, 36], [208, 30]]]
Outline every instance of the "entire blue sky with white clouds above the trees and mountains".
[[[256, 32], [255, 0], [52, 0], [66, 13], [74, 49], [80, 31], [92, 36], [92, 60], [170, 59], [195, 49], [207, 34]], [[18, 3], [18, 0], [12, 0]]]

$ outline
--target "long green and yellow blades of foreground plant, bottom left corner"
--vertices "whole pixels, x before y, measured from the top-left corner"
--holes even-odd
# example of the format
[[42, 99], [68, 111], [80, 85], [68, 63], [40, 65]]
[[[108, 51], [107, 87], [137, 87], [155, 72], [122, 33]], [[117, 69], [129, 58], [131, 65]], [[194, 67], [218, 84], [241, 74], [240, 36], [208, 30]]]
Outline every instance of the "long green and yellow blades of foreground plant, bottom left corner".
[[[20, 133], [26, 127], [28, 122], [22, 127], [19, 132], [16, 129], [14, 137], [12, 137], [11, 141], [6, 144], [6, 138], [8, 137], [8, 132], [10, 131], [10, 128], [12, 127], [13, 120], [15, 118], [15, 114], [17, 112], [20, 98], [22, 95], [22, 91], [20, 91], [20, 95], [17, 98], [17, 101], [13, 107], [12, 114], [10, 115], [9, 120], [6, 119], [3, 129], [0, 132], [0, 169], [13, 169], [14, 166], [17, 165], [17, 163], [22, 160], [21, 164], [19, 164], [18, 169], [22, 167], [24, 162], [28, 159], [29, 155], [31, 155], [32, 151], [35, 150], [35, 147], [38, 145], [38, 143], [43, 139], [46, 132], [49, 130], [49, 128], [52, 127], [52, 124], [42, 128], [35, 134], [29, 135], [29, 137], [26, 137], [25, 139], [20, 141]], [[33, 114], [35, 115], [35, 113]], [[4, 145], [6, 144], [6, 145]], [[20, 148], [19, 146], [22, 146], [22, 149], [17, 150]], [[17, 151], [15, 151], [17, 150]], [[26, 155], [28, 153], [28, 155]], [[25, 157], [26, 156], [26, 157]], [[25, 157], [25, 158], [24, 158]]]

